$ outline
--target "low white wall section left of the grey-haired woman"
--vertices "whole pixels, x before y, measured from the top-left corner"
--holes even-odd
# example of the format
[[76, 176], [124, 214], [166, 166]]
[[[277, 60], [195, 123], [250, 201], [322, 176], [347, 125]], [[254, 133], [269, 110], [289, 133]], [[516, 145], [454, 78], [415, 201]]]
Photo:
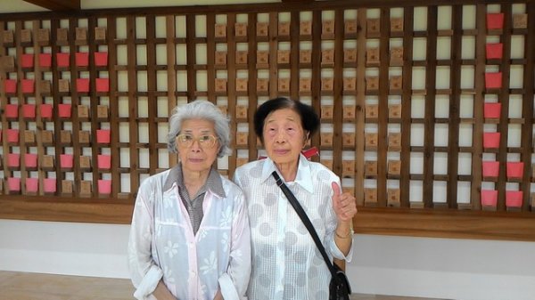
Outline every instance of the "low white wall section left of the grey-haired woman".
[[128, 278], [129, 228], [0, 220], [0, 270]]

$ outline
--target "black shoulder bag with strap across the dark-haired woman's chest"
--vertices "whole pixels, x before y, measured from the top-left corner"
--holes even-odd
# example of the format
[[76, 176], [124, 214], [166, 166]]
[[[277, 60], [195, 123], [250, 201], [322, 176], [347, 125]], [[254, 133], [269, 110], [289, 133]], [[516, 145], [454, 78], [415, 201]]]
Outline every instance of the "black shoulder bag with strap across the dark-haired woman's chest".
[[329, 268], [329, 271], [333, 276], [331, 278], [331, 283], [329, 283], [329, 300], [349, 300], [351, 294], [350, 281], [348, 281], [348, 278], [346, 277], [345, 273], [338, 267], [338, 265], [333, 264], [329, 259], [329, 256], [327, 256], [327, 253], [325, 252], [325, 247], [323, 247], [321, 240], [319, 240], [317, 232], [309, 220], [309, 216], [307, 216], [307, 213], [305, 213], [303, 207], [300, 206], [299, 201], [295, 199], [295, 196], [293, 196], [292, 191], [290, 191], [286, 184], [284, 184], [284, 182], [281, 180], [281, 177], [276, 174], [276, 171], [273, 171], [272, 175], [276, 180], [276, 185], [278, 185], [281, 190], [283, 190], [284, 195], [286, 196], [288, 201], [290, 201], [290, 204], [292, 204], [292, 207], [295, 209], [295, 212], [297, 213], [297, 215], [300, 216], [301, 221], [309, 230], [310, 236], [312, 237], [312, 239], [314, 239], [314, 242], [316, 243], [319, 252], [325, 259], [325, 264], [327, 264], [327, 267]]

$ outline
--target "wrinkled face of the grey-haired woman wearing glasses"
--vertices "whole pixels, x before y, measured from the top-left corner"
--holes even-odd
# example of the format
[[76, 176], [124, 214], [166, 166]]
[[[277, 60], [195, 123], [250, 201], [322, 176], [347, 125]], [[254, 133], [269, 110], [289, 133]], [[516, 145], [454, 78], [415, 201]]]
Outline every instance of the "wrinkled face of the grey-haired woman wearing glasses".
[[182, 122], [177, 135], [178, 157], [183, 172], [210, 171], [218, 158], [219, 141], [214, 123], [204, 119], [188, 119]]

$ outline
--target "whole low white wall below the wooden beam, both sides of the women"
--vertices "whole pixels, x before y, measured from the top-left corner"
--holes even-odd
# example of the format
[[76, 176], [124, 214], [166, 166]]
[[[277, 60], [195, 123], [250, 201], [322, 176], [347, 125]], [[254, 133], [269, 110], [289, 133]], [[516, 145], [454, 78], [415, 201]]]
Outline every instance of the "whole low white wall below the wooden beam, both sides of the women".
[[[0, 270], [128, 278], [128, 225], [0, 220]], [[355, 293], [535, 299], [535, 243], [357, 235]]]

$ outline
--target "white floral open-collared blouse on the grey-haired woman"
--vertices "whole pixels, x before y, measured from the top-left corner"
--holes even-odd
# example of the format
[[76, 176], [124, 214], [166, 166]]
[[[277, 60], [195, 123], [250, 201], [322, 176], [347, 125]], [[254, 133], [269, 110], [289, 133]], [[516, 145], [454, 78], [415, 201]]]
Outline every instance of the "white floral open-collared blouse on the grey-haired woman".
[[[142, 182], [128, 242], [130, 276], [137, 299], [163, 282], [177, 299], [246, 299], [251, 273], [251, 238], [243, 192], [218, 175], [222, 189], [207, 186], [201, 227], [193, 235], [173, 169]], [[167, 182], [167, 184], [166, 184]], [[214, 190], [224, 191], [218, 194]]]

